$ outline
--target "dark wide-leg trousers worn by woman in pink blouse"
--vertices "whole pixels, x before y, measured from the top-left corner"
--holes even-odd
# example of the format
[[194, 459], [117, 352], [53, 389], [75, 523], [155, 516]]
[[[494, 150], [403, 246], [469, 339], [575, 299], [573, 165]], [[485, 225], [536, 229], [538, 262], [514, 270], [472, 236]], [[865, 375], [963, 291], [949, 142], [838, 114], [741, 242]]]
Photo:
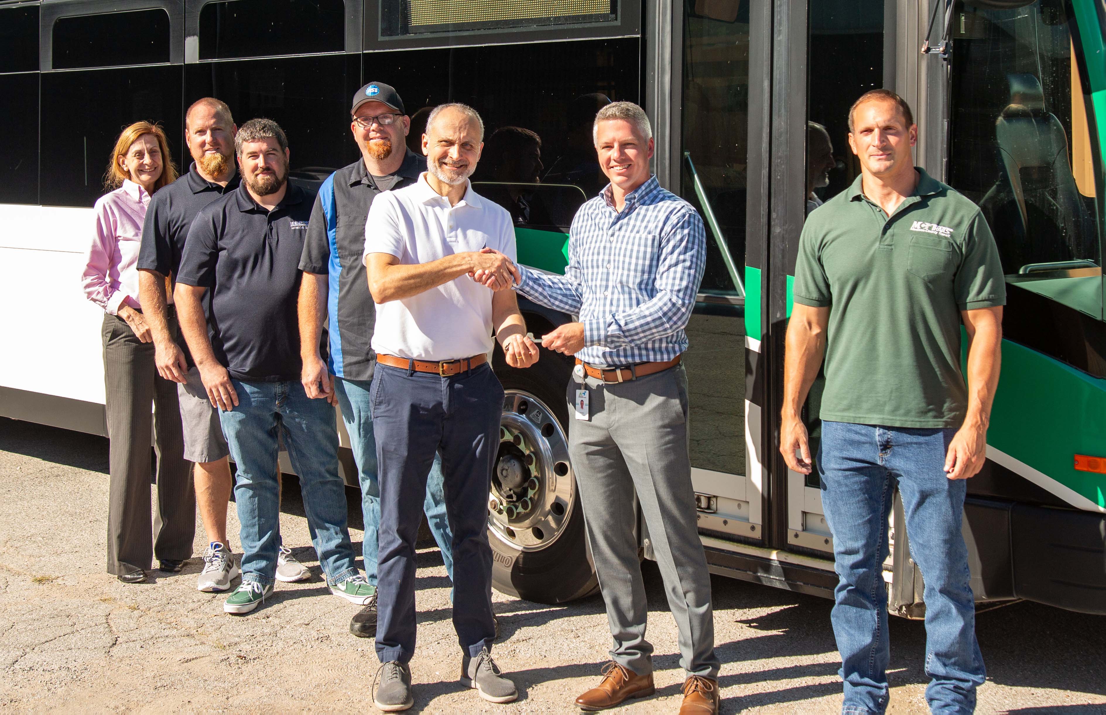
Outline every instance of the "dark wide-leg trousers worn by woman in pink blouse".
[[[176, 333], [176, 320], [169, 329]], [[177, 385], [157, 374], [154, 344], [126, 320], [104, 314], [104, 387], [111, 440], [107, 572], [148, 569], [152, 557], [185, 560], [196, 535], [196, 492], [185, 461]], [[149, 416], [154, 404], [155, 418]], [[149, 519], [149, 446], [157, 452], [157, 504]]]

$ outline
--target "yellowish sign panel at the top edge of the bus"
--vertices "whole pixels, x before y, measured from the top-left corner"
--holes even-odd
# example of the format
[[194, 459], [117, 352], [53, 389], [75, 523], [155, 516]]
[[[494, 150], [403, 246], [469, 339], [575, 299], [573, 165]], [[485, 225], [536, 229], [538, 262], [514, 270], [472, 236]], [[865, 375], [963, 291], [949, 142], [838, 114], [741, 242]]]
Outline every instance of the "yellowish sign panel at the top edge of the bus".
[[380, 36], [614, 22], [617, 0], [383, 0]]

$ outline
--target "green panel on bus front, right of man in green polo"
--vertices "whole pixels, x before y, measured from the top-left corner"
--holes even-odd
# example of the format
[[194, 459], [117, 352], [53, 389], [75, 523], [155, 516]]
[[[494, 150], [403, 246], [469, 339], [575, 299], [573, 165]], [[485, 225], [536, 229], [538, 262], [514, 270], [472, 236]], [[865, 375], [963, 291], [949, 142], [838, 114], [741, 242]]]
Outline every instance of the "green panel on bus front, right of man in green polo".
[[[967, 364], [967, 334], [962, 345]], [[1076, 454], [1106, 458], [1106, 380], [1003, 340], [987, 442], [1106, 507], [1106, 474], [1074, 467]]]

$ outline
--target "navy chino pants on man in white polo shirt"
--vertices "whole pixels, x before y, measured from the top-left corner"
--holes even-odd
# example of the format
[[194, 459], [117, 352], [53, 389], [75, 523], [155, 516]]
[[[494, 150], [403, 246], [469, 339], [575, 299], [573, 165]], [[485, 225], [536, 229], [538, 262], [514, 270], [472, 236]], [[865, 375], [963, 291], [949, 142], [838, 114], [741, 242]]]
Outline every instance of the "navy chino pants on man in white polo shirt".
[[488, 493], [503, 387], [488, 364], [450, 377], [377, 364], [369, 390], [380, 487], [376, 654], [415, 654], [415, 539], [435, 452], [453, 534], [453, 628], [471, 656], [491, 650]]

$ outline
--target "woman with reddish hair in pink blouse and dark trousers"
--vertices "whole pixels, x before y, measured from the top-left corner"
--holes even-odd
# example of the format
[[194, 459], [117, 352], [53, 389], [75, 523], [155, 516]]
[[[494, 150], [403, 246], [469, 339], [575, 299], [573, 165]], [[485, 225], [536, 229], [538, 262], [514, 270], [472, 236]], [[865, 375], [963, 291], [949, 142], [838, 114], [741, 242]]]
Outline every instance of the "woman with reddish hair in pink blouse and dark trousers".
[[[101, 333], [111, 439], [107, 572], [125, 583], [146, 580], [155, 554], [163, 571], [179, 571], [192, 555], [196, 497], [191, 465], [184, 459], [177, 386], [157, 374], [135, 267], [149, 197], [176, 178], [159, 126], [137, 122], [123, 130], [104, 180], [113, 190], [96, 201], [92, 245], [81, 276], [85, 295], [104, 308]], [[175, 333], [176, 322], [169, 317]], [[152, 439], [157, 452], [154, 527]]]

